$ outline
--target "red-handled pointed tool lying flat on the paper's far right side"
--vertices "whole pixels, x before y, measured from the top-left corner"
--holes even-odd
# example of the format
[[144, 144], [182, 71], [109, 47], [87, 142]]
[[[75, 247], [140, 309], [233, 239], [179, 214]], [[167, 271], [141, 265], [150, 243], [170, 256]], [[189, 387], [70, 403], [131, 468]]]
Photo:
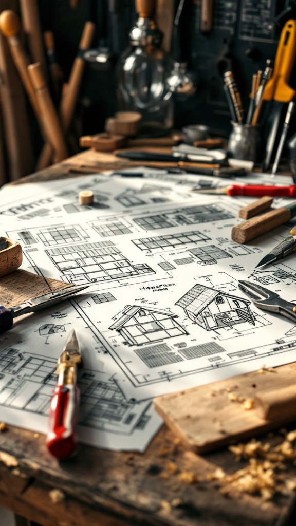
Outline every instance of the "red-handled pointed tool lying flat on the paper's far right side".
[[219, 188], [192, 188], [199, 194], [226, 194], [228, 196], [275, 196], [296, 197], [296, 185], [268, 186], [268, 185], [229, 185]]

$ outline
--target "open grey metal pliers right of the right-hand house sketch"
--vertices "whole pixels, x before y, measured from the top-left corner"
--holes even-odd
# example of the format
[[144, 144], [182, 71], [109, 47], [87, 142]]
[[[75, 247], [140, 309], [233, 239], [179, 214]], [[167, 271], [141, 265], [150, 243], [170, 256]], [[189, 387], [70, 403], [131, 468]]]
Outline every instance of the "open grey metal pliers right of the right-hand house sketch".
[[251, 281], [238, 281], [238, 286], [259, 309], [275, 312], [293, 321], [296, 320], [296, 305], [282, 299], [277, 292], [272, 292]]

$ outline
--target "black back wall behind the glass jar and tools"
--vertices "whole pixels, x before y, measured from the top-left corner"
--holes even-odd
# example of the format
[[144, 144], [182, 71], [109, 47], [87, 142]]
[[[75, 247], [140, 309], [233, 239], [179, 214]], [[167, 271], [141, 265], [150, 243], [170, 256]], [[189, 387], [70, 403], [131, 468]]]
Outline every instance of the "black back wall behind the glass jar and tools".
[[[175, 0], [174, 11], [178, 4]], [[105, 43], [112, 49], [114, 67], [100, 70], [87, 64], [77, 106], [82, 133], [97, 133], [117, 109], [116, 58], [128, 45], [129, 29], [136, 19], [134, 0], [81, 0], [76, 9], [69, 0], [41, 0], [39, 5], [43, 29], [54, 32], [57, 59], [66, 78], [87, 20], [96, 24], [93, 47]], [[223, 72], [234, 71], [244, 105], [248, 105], [252, 75], [264, 69], [268, 58], [274, 58], [281, 28], [295, 16], [293, 2], [291, 10], [284, 12], [289, 5], [287, 0], [214, 0], [213, 28], [204, 34], [201, 1], [184, 0], [181, 52], [198, 77], [198, 91], [176, 101], [176, 127], [203, 123], [230, 130]]]

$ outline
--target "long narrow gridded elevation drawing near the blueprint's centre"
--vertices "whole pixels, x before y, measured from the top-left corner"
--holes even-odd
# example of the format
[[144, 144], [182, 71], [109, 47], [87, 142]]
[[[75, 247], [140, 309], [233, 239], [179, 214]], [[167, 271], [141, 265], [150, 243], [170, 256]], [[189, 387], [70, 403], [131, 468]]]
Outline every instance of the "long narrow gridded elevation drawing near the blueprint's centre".
[[164, 250], [165, 248], [190, 245], [191, 243], [198, 243], [199, 241], [207, 241], [209, 239], [210, 238], [202, 232], [192, 230], [190, 232], [181, 232], [181, 234], [167, 234], [165, 236], [134, 239], [133, 243], [137, 248], [140, 248], [140, 250]]

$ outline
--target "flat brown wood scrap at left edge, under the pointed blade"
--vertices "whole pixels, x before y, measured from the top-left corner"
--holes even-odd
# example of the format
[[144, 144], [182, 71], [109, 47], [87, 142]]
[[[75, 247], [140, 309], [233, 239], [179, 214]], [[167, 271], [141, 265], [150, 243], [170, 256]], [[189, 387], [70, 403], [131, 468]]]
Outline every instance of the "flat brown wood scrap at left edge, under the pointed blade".
[[27, 270], [17, 269], [0, 279], [1, 302], [5, 307], [12, 307], [30, 298], [70, 286], [64, 281], [45, 278]]

